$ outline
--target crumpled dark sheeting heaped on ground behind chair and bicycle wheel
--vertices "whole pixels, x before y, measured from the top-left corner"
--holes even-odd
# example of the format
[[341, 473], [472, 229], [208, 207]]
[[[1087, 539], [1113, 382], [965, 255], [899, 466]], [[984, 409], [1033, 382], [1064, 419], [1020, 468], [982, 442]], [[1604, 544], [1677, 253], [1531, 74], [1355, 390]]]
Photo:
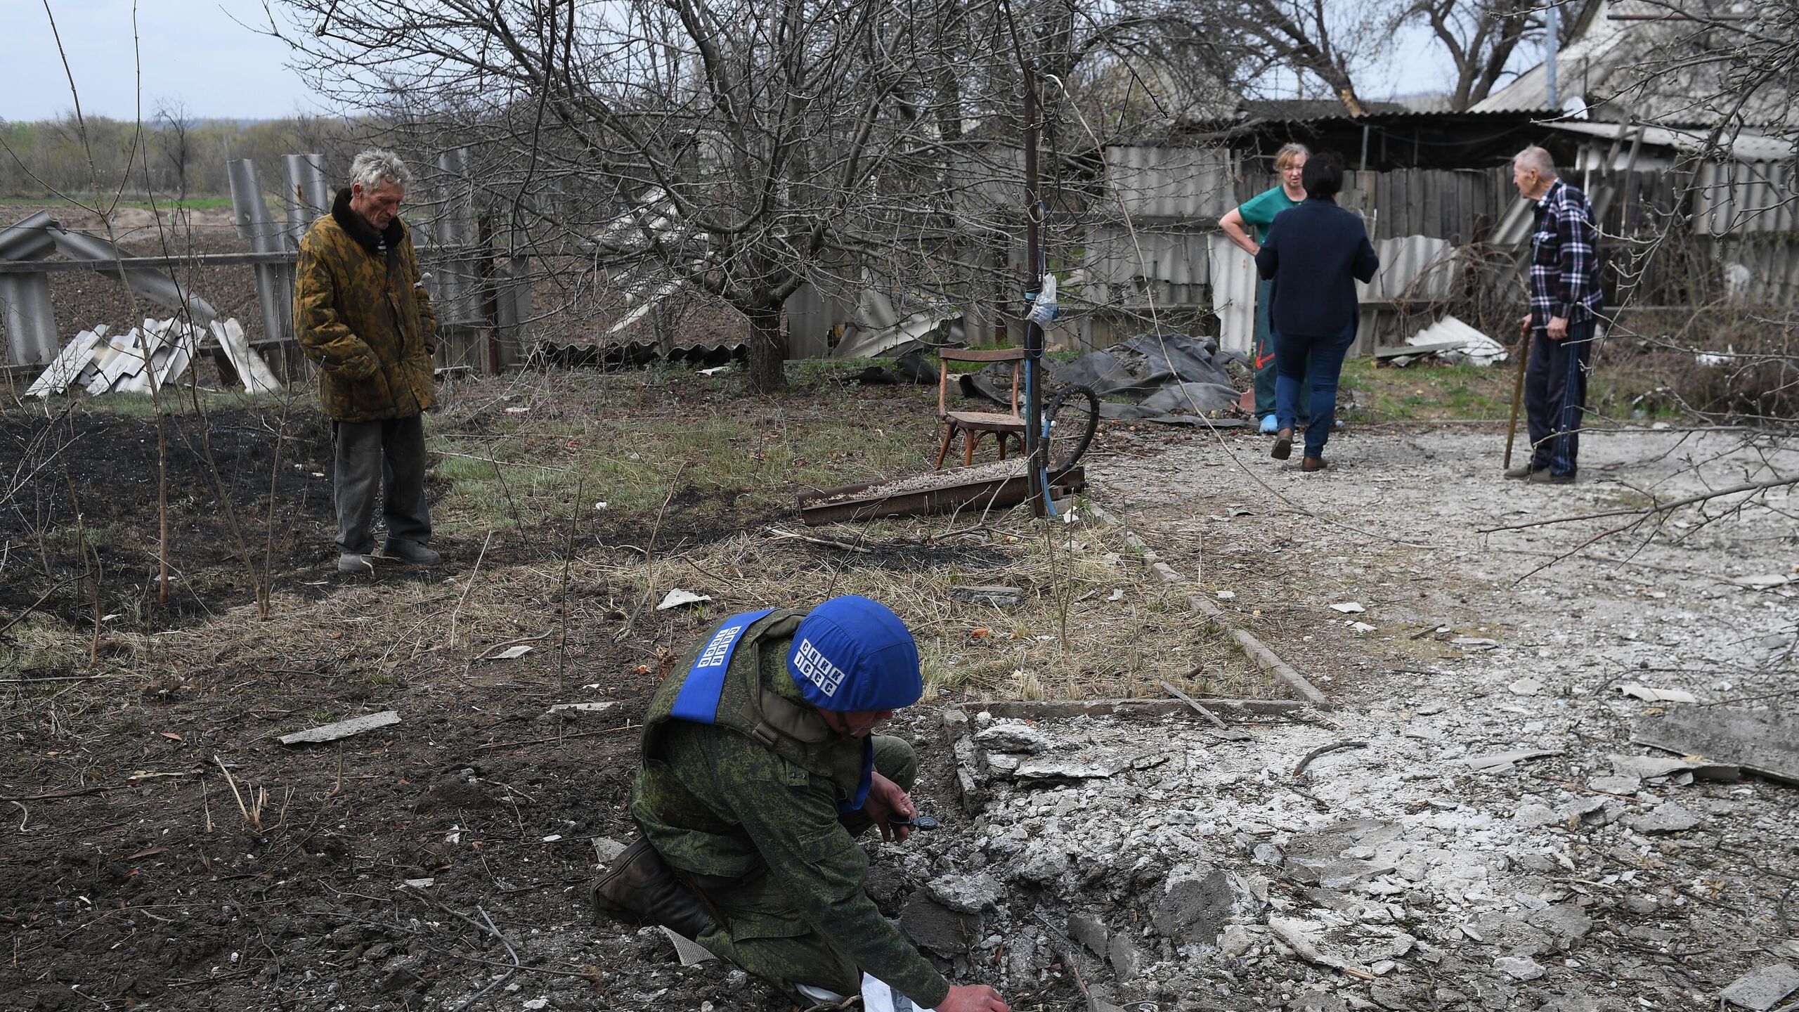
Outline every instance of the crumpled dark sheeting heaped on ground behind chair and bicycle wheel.
[[[1081, 385], [1099, 394], [1101, 418], [1157, 418], [1171, 412], [1213, 412], [1238, 403], [1225, 369], [1249, 364], [1241, 351], [1223, 351], [1209, 337], [1139, 333], [1074, 362], [1049, 366], [1049, 387]], [[1002, 387], [1004, 384], [1004, 387]], [[1011, 403], [1011, 369], [988, 367], [959, 378], [964, 396]], [[1115, 403], [1106, 398], [1128, 398]]]

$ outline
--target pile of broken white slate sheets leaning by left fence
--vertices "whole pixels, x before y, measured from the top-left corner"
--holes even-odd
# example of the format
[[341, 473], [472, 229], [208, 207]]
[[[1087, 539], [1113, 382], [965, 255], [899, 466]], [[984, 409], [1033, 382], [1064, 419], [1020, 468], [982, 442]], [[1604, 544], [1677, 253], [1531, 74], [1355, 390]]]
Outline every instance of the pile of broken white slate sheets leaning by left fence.
[[[243, 326], [236, 319], [212, 321], [209, 328], [243, 380], [243, 389], [250, 393], [281, 389], [281, 380], [245, 340]], [[205, 337], [205, 330], [182, 317], [144, 321], [142, 326], [113, 335], [108, 335], [106, 324], [99, 324], [65, 344], [25, 396], [47, 398], [68, 393], [72, 387], [88, 394], [148, 394], [151, 384], [162, 389], [166, 384], [180, 382]]]

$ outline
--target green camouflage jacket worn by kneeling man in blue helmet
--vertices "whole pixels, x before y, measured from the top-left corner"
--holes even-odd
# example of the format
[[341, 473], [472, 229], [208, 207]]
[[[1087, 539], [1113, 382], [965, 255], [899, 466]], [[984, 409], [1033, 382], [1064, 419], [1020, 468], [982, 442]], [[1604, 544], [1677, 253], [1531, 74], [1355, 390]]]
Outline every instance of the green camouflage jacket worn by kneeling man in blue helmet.
[[777, 875], [806, 924], [750, 929], [783, 936], [810, 927], [864, 972], [935, 1005], [950, 981], [867, 897], [869, 859], [838, 823], [867, 740], [826, 727], [793, 684], [786, 654], [802, 616], [777, 610], [745, 630], [716, 724], [669, 715], [712, 634], [700, 637], [649, 702], [631, 816], [673, 868], [743, 877], [766, 866]]

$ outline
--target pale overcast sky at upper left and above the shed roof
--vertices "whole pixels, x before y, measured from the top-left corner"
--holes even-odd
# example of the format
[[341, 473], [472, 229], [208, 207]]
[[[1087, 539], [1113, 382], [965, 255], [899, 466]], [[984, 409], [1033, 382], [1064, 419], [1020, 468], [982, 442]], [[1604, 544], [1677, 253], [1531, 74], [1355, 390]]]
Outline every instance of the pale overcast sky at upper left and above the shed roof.
[[[133, 117], [131, 7], [131, 0], [50, 0], [86, 113]], [[144, 119], [164, 106], [183, 108], [191, 119], [327, 112], [286, 67], [288, 47], [257, 34], [266, 25], [261, 0], [139, 0]], [[50, 119], [68, 112], [74, 103], [43, 0], [0, 0], [0, 32], [5, 41], [0, 119]], [[1358, 77], [1364, 97], [1445, 88], [1446, 67], [1425, 41], [1423, 32], [1400, 38], [1385, 67]]]

